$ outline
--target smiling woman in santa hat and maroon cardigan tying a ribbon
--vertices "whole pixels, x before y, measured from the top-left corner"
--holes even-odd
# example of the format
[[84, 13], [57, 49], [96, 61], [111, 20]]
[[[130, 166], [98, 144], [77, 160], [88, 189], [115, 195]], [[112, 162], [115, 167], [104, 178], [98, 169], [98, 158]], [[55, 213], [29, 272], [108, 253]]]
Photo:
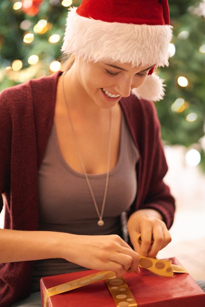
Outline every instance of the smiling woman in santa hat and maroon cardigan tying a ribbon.
[[0, 94], [1, 307], [41, 306], [43, 276], [138, 273], [139, 254], [171, 241], [151, 101], [171, 36], [166, 0], [83, 0], [68, 13], [69, 69]]

